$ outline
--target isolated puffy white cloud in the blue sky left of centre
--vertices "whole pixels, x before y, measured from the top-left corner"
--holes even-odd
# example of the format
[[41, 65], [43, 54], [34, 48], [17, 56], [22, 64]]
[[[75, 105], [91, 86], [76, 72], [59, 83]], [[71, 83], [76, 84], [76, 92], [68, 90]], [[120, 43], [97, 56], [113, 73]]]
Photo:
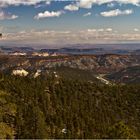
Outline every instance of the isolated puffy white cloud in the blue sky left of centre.
[[42, 19], [42, 18], [49, 18], [49, 17], [59, 17], [62, 15], [63, 11], [45, 11], [44, 13], [38, 13], [34, 18], [35, 19]]

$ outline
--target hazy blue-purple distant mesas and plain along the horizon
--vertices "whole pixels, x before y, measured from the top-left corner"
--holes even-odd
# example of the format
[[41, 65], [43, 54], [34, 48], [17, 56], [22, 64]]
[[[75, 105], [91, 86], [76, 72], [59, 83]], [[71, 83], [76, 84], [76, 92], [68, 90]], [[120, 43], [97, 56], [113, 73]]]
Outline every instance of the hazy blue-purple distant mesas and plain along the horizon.
[[83, 54], [140, 54], [140, 44], [75, 44], [67, 45], [62, 48], [49, 48], [35, 49], [33, 47], [0, 47], [1, 52], [12, 53], [12, 52], [48, 52], [48, 53], [58, 53], [58, 54], [68, 54], [68, 55], [83, 55]]

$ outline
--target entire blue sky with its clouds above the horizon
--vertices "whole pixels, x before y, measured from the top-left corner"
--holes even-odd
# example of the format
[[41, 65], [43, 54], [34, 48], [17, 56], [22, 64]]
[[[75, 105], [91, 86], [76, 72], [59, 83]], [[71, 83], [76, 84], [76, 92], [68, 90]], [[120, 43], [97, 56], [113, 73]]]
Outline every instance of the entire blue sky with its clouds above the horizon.
[[140, 43], [140, 0], [0, 0], [0, 45]]

